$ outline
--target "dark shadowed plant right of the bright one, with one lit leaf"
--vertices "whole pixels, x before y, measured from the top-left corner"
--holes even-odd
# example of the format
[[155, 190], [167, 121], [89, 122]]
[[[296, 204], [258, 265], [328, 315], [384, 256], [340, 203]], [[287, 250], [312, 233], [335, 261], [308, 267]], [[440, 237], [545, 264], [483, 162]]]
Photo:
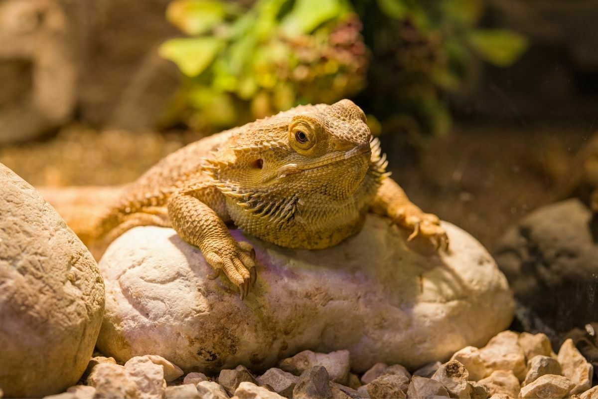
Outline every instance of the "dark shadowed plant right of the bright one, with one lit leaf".
[[412, 142], [450, 130], [446, 94], [463, 90], [478, 60], [509, 66], [527, 48], [518, 33], [478, 28], [483, 0], [354, 4], [373, 53], [368, 89], [358, 101], [380, 117], [383, 130], [407, 132]]

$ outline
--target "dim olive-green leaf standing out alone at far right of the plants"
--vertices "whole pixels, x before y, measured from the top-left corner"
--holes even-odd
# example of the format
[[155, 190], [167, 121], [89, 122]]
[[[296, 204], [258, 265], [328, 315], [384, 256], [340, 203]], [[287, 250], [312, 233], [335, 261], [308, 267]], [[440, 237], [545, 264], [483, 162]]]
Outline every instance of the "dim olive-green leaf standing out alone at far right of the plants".
[[502, 29], [471, 32], [468, 43], [481, 58], [496, 66], [511, 65], [528, 47], [525, 36]]

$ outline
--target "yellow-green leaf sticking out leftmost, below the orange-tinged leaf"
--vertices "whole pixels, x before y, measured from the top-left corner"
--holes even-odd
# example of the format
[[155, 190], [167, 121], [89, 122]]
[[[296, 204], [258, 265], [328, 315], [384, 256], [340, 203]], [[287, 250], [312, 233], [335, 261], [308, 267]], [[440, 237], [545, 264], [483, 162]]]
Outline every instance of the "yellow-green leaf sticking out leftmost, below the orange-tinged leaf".
[[222, 42], [216, 38], [170, 39], [158, 48], [158, 54], [170, 60], [188, 77], [195, 77], [212, 63]]

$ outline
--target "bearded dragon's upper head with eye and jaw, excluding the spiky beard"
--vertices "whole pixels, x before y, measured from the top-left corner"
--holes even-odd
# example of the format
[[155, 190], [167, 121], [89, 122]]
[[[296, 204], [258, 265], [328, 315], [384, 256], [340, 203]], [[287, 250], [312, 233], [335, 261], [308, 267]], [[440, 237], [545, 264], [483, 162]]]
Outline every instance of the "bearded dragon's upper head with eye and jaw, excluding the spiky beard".
[[357, 184], [370, 162], [370, 129], [350, 100], [297, 106], [233, 130], [233, 145], [215, 156], [226, 160], [216, 174], [241, 186], [288, 185], [313, 176], [322, 183], [353, 177]]

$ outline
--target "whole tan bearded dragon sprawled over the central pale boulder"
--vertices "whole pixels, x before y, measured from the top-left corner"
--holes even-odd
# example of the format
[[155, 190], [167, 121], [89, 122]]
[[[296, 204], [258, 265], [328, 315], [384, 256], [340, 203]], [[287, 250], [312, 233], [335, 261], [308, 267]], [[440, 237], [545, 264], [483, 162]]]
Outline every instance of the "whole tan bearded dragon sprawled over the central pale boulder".
[[194, 142], [133, 183], [97, 229], [102, 245], [135, 226], [172, 227], [199, 247], [241, 299], [256, 279], [255, 252], [228, 232], [288, 247], [333, 246], [364, 224], [368, 211], [428, 237], [449, 239], [389, 178], [386, 157], [364, 112], [350, 100], [302, 105]]

